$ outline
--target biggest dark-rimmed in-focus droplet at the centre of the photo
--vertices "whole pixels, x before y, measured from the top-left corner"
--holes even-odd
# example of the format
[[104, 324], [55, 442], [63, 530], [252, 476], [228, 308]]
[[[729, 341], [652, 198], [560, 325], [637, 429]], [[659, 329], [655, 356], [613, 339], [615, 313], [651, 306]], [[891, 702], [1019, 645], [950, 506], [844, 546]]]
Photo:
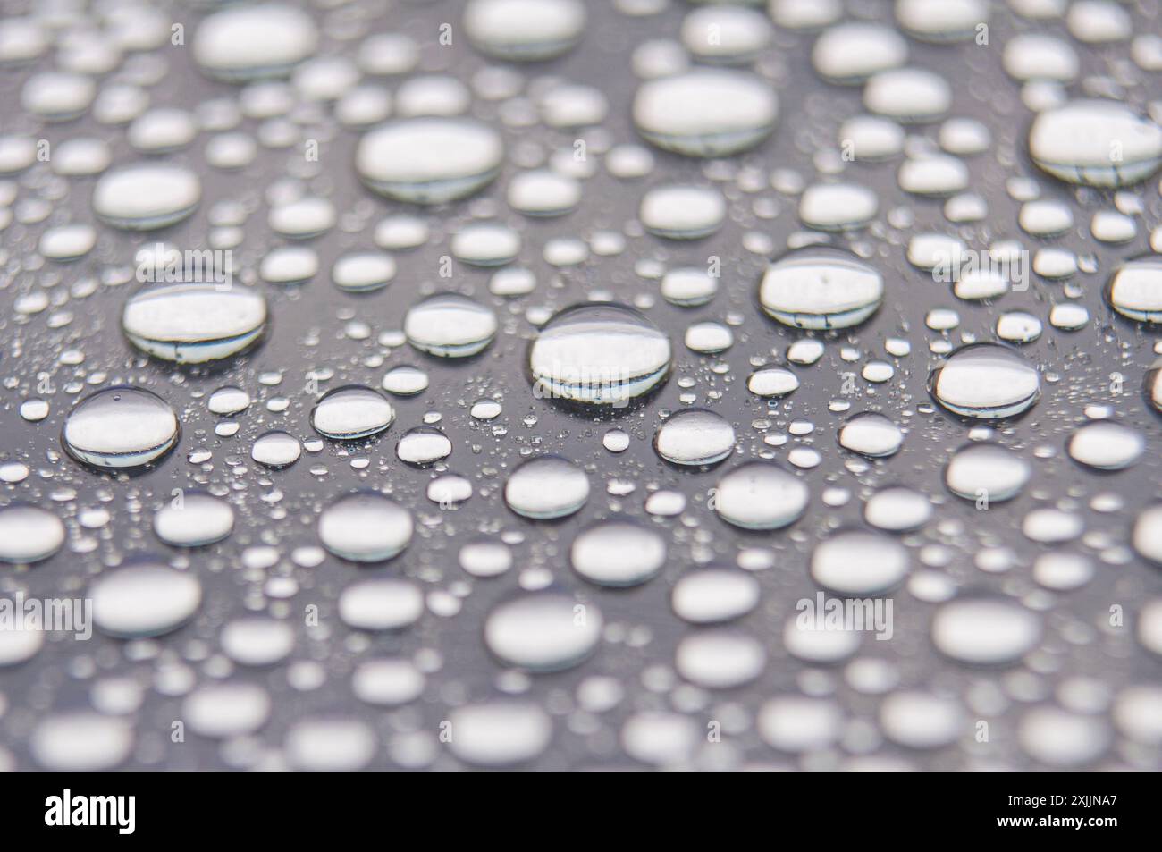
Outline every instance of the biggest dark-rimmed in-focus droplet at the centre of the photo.
[[529, 364], [540, 398], [624, 406], [666, 378], [670, 357], [669, 338], [633, 308], [579, 305], [548, 321]]

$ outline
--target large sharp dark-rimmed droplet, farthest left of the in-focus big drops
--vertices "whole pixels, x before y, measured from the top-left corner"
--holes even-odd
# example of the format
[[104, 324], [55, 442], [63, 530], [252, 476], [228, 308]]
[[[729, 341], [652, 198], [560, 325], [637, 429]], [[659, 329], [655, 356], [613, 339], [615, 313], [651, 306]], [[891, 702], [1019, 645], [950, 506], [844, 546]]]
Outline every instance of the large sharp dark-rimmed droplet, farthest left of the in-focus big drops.
[[69, 454], [103, 471], [131, 471], [163, 458], [178, 444], [178, 415], [151, 391], [120, 385], [77, 403], [60, 443]]

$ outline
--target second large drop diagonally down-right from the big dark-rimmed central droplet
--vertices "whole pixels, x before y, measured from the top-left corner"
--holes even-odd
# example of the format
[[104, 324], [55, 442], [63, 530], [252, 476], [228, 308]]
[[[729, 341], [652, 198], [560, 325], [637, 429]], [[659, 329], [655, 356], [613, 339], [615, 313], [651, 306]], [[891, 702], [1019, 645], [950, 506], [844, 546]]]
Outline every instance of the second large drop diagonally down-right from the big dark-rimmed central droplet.
[[810, 492], [792, 473], [769, 461], [748, 461], [720, 480], [713, 508], [724, 521], [749, 530], [777, 530], [798, 521]]

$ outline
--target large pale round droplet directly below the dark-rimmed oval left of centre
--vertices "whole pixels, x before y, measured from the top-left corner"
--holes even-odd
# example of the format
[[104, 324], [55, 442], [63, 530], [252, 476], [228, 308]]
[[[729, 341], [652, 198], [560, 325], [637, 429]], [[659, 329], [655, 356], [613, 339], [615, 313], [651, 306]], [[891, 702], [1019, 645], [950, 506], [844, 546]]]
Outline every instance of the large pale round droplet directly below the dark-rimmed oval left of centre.
[[356, 563], [381, 563], [411, 540], [411, 515], [378, 492], [356, 492], [318, 516], [318, 538], [331, 553]]

